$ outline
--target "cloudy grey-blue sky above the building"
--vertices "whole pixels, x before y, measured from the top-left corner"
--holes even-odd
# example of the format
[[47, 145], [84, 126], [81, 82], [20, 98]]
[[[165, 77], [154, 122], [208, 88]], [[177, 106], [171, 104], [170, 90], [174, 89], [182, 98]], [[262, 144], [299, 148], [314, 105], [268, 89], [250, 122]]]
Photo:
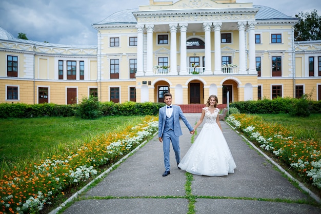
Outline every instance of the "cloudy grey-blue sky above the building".
[[[178, 0], [174, 0], [177, 2]], [[294, 17], [298, 12], [321, 15], [319, 0], [236, 0], [264, 5]], [[96, 45], [97, 31], [91, 24], [109, 15], [149, 5], [149, 0], [1, 0], [0, 27], [14, 37], [25, 33], [29, 40], [67, 45]]]

